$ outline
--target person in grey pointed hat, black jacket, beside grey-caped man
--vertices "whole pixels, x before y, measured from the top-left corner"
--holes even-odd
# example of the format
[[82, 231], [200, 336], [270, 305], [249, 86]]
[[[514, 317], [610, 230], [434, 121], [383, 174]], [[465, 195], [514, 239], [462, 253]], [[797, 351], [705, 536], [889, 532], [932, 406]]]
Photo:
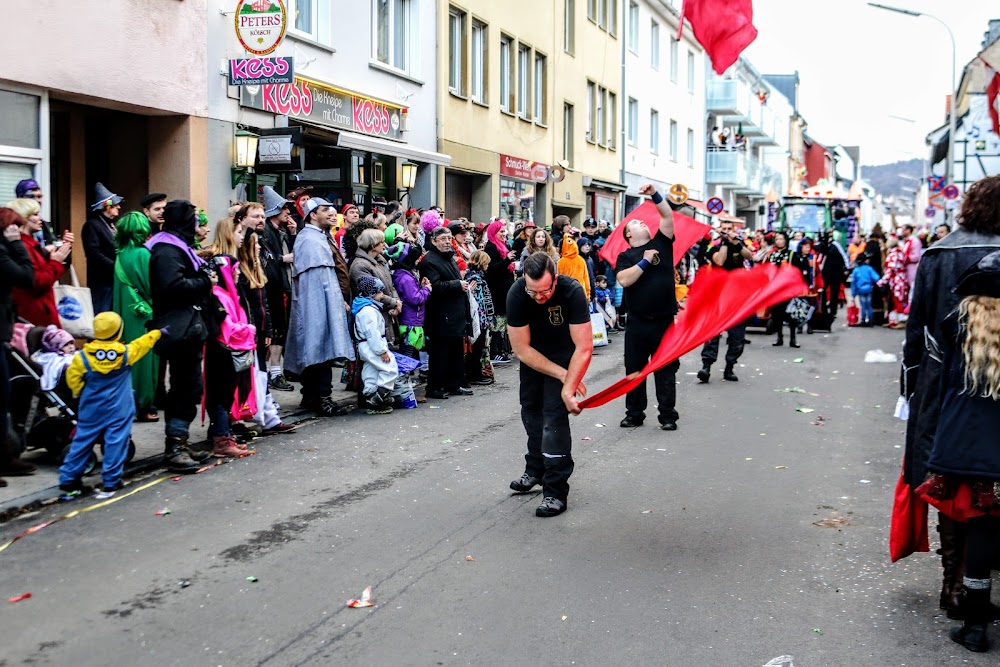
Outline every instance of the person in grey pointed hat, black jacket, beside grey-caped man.
[[285, 336], [288, 334], [288, 316], [292, 310], [292, 248], [295, 239], [289, 232], [295, 229], [291, 216], [292, 202], [270, 186], [264, 186], [264, 230], [260, 235], [261, 253], [264, 255], [264, 276], [267, 284], [267, 308], [271, 315], [271, 354], [268, 377], [271, 389], [293, 391], [282, 370]]

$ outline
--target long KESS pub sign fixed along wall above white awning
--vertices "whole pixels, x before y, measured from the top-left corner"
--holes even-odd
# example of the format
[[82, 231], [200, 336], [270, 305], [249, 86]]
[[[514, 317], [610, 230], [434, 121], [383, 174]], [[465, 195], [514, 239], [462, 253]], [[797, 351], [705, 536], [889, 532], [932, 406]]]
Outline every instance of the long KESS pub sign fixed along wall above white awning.
[[401, 140], [406, 108], [316, 81], [242, 86], [240, 104], [252, 109], [301, 118], [317, 125]]

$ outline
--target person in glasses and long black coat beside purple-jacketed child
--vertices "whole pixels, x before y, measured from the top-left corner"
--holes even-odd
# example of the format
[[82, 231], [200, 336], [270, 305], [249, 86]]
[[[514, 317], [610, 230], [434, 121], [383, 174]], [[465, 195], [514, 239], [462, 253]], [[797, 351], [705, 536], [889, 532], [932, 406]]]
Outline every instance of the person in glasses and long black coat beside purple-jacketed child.
[[418, 265], [420, 275], [431, 283], [424, 318], [430, 365], [427, 398], [445, 399], [449, 394], [471, 396], [472, 390], [462, 386], [465, 337], [472, 334], [470, 285], [458, 271], [448, 228], [436, 228], [429, 238], [430, 247]]

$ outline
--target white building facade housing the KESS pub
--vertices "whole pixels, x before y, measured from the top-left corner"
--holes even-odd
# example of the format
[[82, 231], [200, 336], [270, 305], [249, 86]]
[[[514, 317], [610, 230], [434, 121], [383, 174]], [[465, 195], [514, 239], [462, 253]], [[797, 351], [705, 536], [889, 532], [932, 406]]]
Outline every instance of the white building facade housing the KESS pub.
[[[436, 166], [449, 158], [436, 150], [433, 1], [284, 0], [285, 37], [271, 56], [293, 60], [294, 81], [248, 86], [228, 85], [228, 62], [249, 55], [234, 31], [236, 2], [208, 2], [215, 215], [264, 185], [310, 186], [363, 214], [381, 201], [435, 203]], [[259, 139], [252, 171], [237, 173], [241, 131]]]

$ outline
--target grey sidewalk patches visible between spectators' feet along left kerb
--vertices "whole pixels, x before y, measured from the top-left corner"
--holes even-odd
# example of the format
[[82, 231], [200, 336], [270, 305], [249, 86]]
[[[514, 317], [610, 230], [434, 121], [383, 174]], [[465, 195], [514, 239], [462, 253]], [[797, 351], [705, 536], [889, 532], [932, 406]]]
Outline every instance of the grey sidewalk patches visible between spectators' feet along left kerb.
[[[298, 385], [296, 385], [294, 392], [279, 391], [272, 395], [281, 405], [282, 421], [296, 424], [316, 417], [316, 414], [311, 411], [299, 409]], [[334, 390], [333, 399], [337, 405], [350, 406], [357, 402], [357, 395], [349, 391]], [[132, 439], [135, 441], [136, 452], [135, 458], [125, 464], [126, 482], [130, 477], [162, 467], [163, 414], [160, 414], [159, 422], [135, 423], [132, 426]], [[191, 442], [196, 443], [207, 439], [208, 422], [202, 424], [199, 410], [199, 416], [191, 424]], [[254, 440], [253, 446], [258, 447], [265, 440], [266, 438], [258, 438]], [[0, 522], [9, 519], [10, 515], [17, 514], [18, 510], [44, 504], [60, 495], [59, 466], [51, 461], [44, 449], [27, 451], [21, 455], [21, 459], [37, 465], [38, 472], [28, 477], [4, 477], [7, 486], [0, 488]], [[101, 468], [98, 464], [94, 473], [85, 478], [84, 481], [94, 484], [95, 480], [99, 479], [100, 473]]]

